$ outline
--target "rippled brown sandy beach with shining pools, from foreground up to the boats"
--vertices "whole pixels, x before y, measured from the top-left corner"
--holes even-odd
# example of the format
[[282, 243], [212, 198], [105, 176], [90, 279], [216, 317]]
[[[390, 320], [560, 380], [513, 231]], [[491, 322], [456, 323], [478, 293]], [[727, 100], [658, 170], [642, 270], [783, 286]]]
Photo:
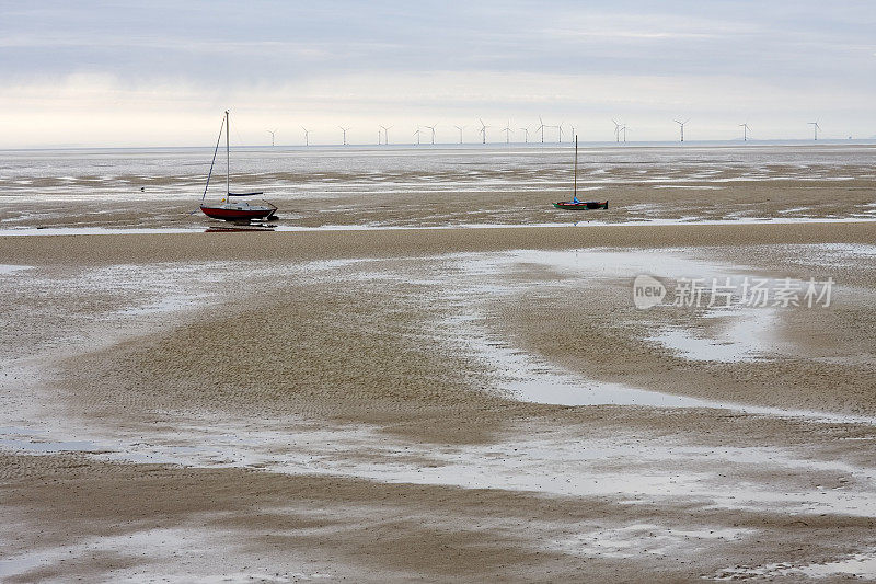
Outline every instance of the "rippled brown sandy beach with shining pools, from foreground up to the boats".
[[[0, 234], [0, 579], [876, 579], [872, 174], [666, 188], [669, 225], [614, 179], [577, 225], [560, 186], [263, 233], [4, 205], [61, 234]], [[154, 232], [62, 234], [101, 226]]]

